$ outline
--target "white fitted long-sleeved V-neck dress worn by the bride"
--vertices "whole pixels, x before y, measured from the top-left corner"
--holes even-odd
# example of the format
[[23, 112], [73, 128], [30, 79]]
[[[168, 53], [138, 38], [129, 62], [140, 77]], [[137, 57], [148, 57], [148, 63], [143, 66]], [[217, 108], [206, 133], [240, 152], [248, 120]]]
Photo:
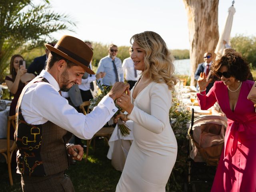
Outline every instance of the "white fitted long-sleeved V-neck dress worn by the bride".
[[133, 100], [128, 118], [134, 121], [134, 141], [116, 192], [165, 192], [177, 156], [169, 121], [171, 91], [166, 84], [151, 82]]

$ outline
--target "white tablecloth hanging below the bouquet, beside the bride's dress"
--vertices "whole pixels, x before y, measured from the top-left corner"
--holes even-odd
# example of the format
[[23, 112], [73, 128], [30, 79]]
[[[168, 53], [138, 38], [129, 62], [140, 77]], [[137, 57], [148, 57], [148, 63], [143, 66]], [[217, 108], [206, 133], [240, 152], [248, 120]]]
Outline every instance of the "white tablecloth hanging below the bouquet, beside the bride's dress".
[[[126, 160], [126, 156], [122, 150], [121, 143], [122, 143], [123, 148], [125, 148], [127, 151], [129, 151], [132, 141], [134, 140], [133, 133], [132, 133], [133, 121], [128, 120], [126, 122], [126, 125], [131, 130], [130, 134], [127, 137], [123, 137], [123, 136], [121, 136], [121, 134], [119, 134], [120, 140], [118, 140], [117, 132], [119, 130], [116, 125], [116, 127], [110, 137], [110, 140], [108, 141], [109, 150], [108, 150], [107, 158], [112, 160], [111, 161], [112, 166], [114, 166], [114, 168], [119, 171], [123, 170], [124, 163]], [[119, 131], [119, 133], [120, 133], [120, 131]]]

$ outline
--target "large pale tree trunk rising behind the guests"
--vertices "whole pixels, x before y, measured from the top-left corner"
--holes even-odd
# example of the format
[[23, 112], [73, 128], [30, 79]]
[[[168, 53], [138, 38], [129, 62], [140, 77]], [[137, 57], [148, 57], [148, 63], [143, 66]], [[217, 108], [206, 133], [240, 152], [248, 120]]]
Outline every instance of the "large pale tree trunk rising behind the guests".
[[204, 62], [205, 52], [214, 50], [218, 43], [218, 0], [183, 0], [188, 14], [190, 42], [191, 81], [194, 85], [194, 73], [199, 63]]

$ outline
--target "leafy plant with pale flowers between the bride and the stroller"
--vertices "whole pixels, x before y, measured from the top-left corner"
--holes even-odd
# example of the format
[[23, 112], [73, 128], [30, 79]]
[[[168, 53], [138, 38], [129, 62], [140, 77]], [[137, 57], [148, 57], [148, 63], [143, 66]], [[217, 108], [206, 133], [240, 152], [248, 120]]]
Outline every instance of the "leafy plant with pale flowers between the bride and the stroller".
[[172, 174], [166, 185], [166, 192], [183, 191], [182, 184], [187, 182], [187, 124], [190, 122], [191, 113], [175, 96], [172, 98], [172, 107], [169, 111], [170, 124], [178, 143], [177, 159], [172, 169]]

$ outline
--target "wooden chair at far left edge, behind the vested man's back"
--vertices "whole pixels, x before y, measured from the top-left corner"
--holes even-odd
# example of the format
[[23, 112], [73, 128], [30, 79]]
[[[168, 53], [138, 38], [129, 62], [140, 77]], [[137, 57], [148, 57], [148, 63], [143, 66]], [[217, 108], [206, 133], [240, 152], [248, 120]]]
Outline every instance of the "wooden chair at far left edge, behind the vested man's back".
[[10, 140], [11, 124], [15, 129], [15, 115], [8, 117], [7, 138], [6, 139], [0, 139], [0, 153], [6, 159], [6, 163], [7, 163], [7, 166], [8, 166], [8, 174], [9, 174], [10, 185], [13, 185], [11, 160], [12, 160], [12, 154], [16, 149], [16, 143], [13, 140]]

